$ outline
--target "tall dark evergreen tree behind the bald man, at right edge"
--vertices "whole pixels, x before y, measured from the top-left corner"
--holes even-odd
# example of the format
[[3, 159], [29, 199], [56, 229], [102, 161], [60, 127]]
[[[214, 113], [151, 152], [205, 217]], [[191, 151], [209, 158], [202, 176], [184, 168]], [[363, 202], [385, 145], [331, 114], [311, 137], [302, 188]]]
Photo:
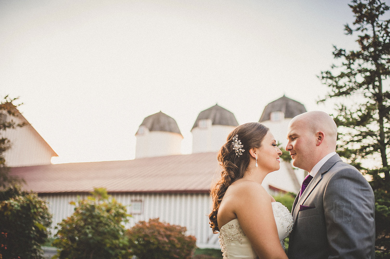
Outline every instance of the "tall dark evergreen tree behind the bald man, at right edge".
[[[362, 173], [372, 176], [376, 199], [376, 247], [390, 252], [390, 20], [381, 17], [389, 7], [381, 0], [353, 0], [353, 26], [345, 25], [347, 35], [358, 33], [359, 49], [346, 51], [334, 46], [333, 56], [342, 60], [319, 78], [331, 88], [324, 101], [353, 97], [358, 104], [337, 104], [333, 116], [339, 127], [339, 154]], [[345, 99], [345, 98], [344, 98]], [[376, 166], [362, 166], [364, 159]], [[379, 158], [379, 159], [378, 159]]]

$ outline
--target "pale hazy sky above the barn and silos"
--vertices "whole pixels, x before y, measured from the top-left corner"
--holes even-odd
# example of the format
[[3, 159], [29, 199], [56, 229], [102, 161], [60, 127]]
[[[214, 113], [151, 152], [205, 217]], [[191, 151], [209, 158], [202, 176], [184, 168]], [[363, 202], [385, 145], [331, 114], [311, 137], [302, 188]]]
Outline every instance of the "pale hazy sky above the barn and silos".
[[160, 110], [191, 152], [191, 127], [216, 103], [238, 123], [258, 121], [283, 94], [307, 110], [328, 92], [347, 0], [0, 1], [0, 95], [59, 157], [53, 163], [127, 160], [135, 133]]

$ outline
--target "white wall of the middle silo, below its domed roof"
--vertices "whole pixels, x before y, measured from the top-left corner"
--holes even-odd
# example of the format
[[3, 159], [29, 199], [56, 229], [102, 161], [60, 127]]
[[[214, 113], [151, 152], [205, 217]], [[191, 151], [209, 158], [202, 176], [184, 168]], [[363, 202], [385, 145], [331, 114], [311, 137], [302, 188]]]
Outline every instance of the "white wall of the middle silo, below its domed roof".
[[192, 153], [216, 152], [226, 143], [235, 126], [212, 125], [208, 128], [195, 127], [192, 133]]

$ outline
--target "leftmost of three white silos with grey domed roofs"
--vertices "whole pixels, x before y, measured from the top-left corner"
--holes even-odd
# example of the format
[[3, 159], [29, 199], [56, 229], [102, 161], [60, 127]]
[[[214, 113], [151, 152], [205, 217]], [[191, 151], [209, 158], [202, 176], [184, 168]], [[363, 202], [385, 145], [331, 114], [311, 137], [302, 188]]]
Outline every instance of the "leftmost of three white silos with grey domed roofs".
[[161, 111], [147, 116], [135, 137], [136, 159], [180, 154], [183, 136], [174, 118]]

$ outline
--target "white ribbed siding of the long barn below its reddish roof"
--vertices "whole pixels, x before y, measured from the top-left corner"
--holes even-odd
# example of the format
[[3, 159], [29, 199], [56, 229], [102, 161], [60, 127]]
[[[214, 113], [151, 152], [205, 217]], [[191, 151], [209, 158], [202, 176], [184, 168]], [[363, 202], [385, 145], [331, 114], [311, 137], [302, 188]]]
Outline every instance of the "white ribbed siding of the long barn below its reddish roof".
[[[74, 206], [69, 202], [77, 201], [77, 195], [74, 194], [40, 196], [48, 201], [49, 210], [53, 214], [53, 229], [62, 219], [72, 215]], [[143, 203], [142, 213], [133, 215], [126, 228], [134, 226], [140, 220], [160, 218], [160, 221], [186, 227], [187, 234], [197, 238], [198, 247], [220, 248], [218, 234], [213, 234], [209, 227], [207, 215], [210, 213], [211, 199], [208, 194], [113, 194], [112, 197], [128, 206], [128, 212], [131, 211], [131, 201], [141, 200]]]

